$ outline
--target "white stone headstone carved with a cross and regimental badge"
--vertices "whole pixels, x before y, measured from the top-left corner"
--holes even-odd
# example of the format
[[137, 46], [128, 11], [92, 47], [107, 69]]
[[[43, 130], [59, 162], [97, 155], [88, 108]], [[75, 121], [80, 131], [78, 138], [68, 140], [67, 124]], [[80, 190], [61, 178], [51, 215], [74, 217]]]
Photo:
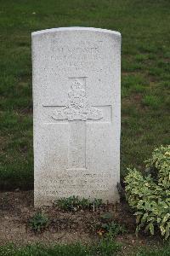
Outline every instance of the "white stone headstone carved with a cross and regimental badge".
[[61, 197], [119, 201], [121, 34], [32, 33], [35, 206]]

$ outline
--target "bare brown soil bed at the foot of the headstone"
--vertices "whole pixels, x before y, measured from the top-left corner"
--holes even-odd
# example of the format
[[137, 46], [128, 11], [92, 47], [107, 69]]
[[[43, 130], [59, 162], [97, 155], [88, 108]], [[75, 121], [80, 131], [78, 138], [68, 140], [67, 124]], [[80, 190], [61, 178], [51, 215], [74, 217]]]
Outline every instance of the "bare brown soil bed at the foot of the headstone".
[[[28, 225], [29, 219], [35, 212], [44, 212], [50, 219], [46, 230], [35, 234]], [[64, 212], [57, 207], [33, 207], [33, 191], [0, 192], [0, 245], [13, 242], [17, 245], [34, 242], [84, 243], [99, 239], [96, 225], [100, 223], [102, 212], [112, 211], [114, 219], [123, 224], [128, 232], [117, 236], [116, 240], [123, 242], [125, 247], [136, 244], [144, 245], [148, 239], [134, 235], [135, 219], [127, 204], [101, 207], [97, 211]]]

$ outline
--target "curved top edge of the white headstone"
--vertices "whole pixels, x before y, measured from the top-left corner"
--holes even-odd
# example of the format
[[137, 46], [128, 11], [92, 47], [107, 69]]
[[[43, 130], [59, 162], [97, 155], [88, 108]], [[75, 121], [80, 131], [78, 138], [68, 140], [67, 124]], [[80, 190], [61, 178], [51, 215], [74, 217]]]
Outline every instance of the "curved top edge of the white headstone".
[[114, 34], [116, 36], [121, 37], [120, 32], [104, 29], [104, 28], [95, 28], [95, 27], [83, 27], [83, 26], [70, 26], [70, 27], [56, 27], [56, 28], [50, 28], [45, 30], [40, 30], [37, 32], [32, 32], [31, 36], [36, 36], [40, 34], [45, 34], [49, 32], [68, 32], [68, 31], [88, 31], [88, 32], [105, 32]]

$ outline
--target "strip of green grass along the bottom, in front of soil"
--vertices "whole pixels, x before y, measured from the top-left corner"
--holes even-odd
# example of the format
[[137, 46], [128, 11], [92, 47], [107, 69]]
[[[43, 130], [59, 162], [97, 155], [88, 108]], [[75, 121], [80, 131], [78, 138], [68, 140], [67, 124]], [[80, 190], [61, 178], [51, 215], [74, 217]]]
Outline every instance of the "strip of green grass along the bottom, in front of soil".
[[111, 239], [102, 239], [91, 245], [82, 243], [72, 244], [31, 244], [27, 246], [15, 246], [7, 244], [0, 246], [1, 256], [169, 256], [170, 245], [159, 247], [137, 247], [124, 248]]

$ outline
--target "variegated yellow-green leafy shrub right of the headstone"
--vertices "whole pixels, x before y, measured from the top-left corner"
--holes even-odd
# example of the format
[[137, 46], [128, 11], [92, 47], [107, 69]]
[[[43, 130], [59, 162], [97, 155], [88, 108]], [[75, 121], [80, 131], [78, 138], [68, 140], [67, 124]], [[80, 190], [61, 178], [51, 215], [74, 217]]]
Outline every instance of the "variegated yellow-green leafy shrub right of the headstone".
[[136, 169], [128, 169], [125, 177], [127, 201], [136, 216], [136, 233], [144, 228], [154, 235], [158, 229], [167, 239], [170, 235], [170, 145], [156, 148], [145, 163], [144, 176]]

